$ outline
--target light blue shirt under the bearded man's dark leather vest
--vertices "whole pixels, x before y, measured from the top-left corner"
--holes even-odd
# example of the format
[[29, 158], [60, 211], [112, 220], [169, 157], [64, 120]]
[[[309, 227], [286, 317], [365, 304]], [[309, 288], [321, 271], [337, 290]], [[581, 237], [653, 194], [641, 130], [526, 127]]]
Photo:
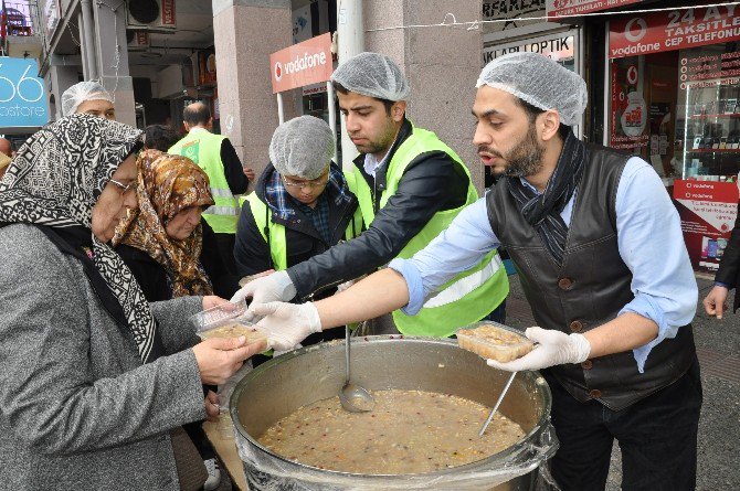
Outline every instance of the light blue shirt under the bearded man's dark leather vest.
[[[560, 214], [568, 225], [574, 200], [575, 194]], [[694, 319], [699, 292], [678, 212], [660, 178], [643, 159], [627, 160], [620, 178], [615, 209], [617, 247], [632, 271], [631, 289], [635, 296], [619, 314], [634, 312], [658, 325], [656, 339], [633, 350], [642, 373], [653, 346], [666, 338], [675, 338], [678, 328]], [[403, 312], [411, 316], [419, 312], [436, 288], [478, 264], [499, 245], [488, 222], [486, 200], [482, 198], [463, 210], [447, 230], [412, 258], [393, 259], [389, 264], [403, 275], [409, 288], [410, 300]]]

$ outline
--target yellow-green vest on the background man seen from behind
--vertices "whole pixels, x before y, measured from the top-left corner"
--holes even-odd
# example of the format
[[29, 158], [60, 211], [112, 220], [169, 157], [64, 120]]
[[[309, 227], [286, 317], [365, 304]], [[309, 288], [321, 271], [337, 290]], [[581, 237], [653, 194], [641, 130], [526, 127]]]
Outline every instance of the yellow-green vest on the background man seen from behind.
[[203, 212], [203, 218], [216, 234], [235, 234], [239, 203], [229, 189], [221, 162], [221, 143], [225, 138], [209, 131], [191, 131], [175, 143], [168, 153], [189, 158], [208, 174], [215, 204]]

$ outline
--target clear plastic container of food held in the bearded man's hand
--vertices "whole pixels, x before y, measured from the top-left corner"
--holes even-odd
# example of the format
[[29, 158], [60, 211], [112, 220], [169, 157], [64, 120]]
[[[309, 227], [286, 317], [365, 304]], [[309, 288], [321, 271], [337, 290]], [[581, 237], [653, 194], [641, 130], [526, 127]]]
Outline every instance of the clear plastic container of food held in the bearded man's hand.
[[535, 343], [519, 331], [493, 321], [466, 325], [455, 334], [463, 350], [501, 363], [521, 357], [535, 348]]

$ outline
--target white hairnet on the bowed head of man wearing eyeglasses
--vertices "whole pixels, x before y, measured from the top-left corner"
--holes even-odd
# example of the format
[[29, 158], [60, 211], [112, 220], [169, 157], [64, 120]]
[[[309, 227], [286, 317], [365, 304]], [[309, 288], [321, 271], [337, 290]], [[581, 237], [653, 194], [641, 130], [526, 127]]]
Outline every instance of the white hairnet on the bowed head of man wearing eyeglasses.
[[316, 179], [334, 157], [334, 136], [324, 119], [299, 116], [277, 127], [269, 160], [283, 175]]

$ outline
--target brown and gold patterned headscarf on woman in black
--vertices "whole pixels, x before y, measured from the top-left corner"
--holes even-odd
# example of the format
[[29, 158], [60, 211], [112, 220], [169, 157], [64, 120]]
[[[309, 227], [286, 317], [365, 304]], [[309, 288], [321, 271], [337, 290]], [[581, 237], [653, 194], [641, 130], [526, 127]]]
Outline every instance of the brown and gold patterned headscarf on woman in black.
[[137, 160], [136, 194], [139, 209], [116, 230], [114, 244], [127, 244], [162, 265], [172, 282], [172, 295], [212, 295], [213, 287], [200, 264], [202, 226], [188, 238], [167, 235], [167, 223], [189, 206], [210, 206], [213, 198], [208, 175], [192, 160], [146, 150]]

